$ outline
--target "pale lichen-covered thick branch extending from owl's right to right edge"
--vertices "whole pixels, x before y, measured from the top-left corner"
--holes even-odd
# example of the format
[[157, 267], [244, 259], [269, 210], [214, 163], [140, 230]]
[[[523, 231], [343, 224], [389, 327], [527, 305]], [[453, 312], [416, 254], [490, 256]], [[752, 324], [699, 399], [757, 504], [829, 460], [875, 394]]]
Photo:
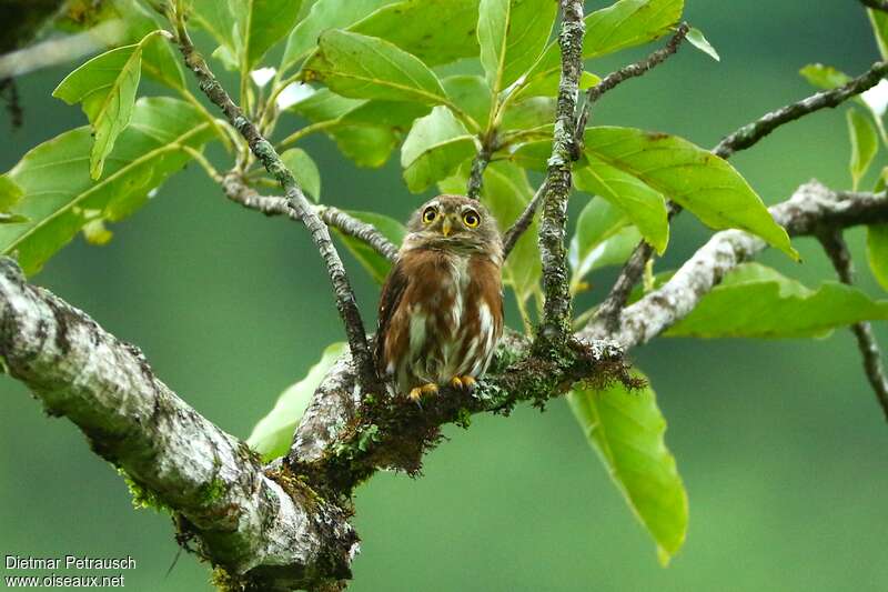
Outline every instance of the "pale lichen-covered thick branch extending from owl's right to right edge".
[[[769, 211], [790, 235], [816, 235], [825, 229], [888, 221], [888, 198], [885, 193], [837, 193], [813, 181]], [[765, 247], [761, 239], [739, 230], [718, 232], [668, 282], [624, 309], [616, 331], [591, 324], [578, 337], [610, 338], [626, 350], [646, 343], [684, 319], [725, 274]]]

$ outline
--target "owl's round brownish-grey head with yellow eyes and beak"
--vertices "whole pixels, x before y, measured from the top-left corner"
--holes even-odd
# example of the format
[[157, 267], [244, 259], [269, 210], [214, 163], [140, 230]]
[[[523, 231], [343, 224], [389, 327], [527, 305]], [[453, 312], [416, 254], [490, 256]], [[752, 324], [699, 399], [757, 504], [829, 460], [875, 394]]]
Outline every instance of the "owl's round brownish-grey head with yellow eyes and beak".
[[496, 220], [480, 201], [463, 195], [438, 195], [425, 202], [407, 222], [404, 249], [481, 252], [502, 259]]

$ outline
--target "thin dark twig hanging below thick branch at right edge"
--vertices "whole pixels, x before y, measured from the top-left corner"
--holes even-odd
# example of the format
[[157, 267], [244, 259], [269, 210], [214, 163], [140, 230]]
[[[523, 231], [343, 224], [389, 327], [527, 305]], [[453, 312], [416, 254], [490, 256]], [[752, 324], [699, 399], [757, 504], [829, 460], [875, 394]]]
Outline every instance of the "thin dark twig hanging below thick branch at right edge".
[[[851, 253], [848, 251], [848, 245], [841, 237], [841, 231], [830, 229], [818, 234], [818, 240], [824, 247], [824, 251], [833, 262], [836, 273], [841, 283], [851, 285], [854, 283], [854, 268], [851, 265]], [[866, 372], [867, 380], [876, 393], [876, 399], [881, 405], [885, 418], [888, 420], [888, 379], [885, 377], [885, 367], [881, 362], [881, 351], [879, 343], [876, 341], [876, 335], [872, 333], [872, 327], [868, 322], [855, 323], [851, 325], [851, 332], [857, 338], [857, 348], [860, 350], [860, 355], [864, 359], [864, 371]]]

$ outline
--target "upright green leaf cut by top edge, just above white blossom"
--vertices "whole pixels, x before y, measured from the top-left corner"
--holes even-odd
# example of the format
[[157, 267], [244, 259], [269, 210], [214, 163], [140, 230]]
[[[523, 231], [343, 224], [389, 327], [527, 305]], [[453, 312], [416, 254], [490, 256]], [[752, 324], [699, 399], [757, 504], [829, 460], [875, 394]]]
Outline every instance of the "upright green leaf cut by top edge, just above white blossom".
[[252, 70], [299, 18], [302, 0], [229, 0], [242, 68]]

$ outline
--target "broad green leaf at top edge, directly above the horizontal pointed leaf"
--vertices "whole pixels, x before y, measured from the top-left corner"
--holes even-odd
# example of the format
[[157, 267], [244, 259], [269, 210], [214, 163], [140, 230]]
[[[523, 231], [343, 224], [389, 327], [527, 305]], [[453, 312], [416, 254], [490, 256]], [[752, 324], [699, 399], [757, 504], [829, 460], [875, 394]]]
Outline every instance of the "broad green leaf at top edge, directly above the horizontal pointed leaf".
[[477, 56], [478, 0], [404, 0], [349, 28], [385, 39], [428, 66]]

